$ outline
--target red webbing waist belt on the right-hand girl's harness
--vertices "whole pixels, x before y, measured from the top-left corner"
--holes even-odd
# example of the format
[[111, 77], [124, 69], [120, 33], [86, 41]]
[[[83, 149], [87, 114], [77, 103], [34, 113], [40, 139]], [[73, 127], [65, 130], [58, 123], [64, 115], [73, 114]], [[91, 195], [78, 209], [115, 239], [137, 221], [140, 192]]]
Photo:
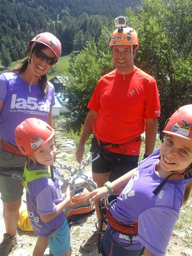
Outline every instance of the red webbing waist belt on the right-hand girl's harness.
[[128, 235], [137, 235], [138, 233], [138, 222], [132, 222], [129, 224], [124, 224], [116, 220], [110, 213], [109, 208], [107, 207], [107, 221], [109, 225], [114, 228], [116, 231], [128, 234]]

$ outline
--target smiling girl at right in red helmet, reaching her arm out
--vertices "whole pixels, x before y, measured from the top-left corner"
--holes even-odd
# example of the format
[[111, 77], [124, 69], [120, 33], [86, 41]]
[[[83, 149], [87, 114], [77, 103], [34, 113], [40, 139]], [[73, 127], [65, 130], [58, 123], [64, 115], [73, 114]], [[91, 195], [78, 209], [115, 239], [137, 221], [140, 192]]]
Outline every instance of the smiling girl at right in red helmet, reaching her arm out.
[[[112, 183], [108, 181], [85, 198], [94, 201], [122, 188], [107, 211], [102, 256], [138, 256], [144, 247], [143, 256], [162, 256], [166, 251], [179, 210], [192, 188], [192, 105], [179, 108], [163, 132], [160, 149], [137, 169]], [[132, 222], [138, 222], [133, 224], [138, 224], [135, 235], [121, 232]]]

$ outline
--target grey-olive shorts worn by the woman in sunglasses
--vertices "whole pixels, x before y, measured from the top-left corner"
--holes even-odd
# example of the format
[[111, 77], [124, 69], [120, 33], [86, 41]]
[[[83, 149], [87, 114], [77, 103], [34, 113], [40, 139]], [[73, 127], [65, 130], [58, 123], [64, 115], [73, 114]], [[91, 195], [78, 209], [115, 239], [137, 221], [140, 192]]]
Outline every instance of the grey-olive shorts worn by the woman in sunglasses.
[[[25, 162], [25, 156], [19, 156], [0, 149], [0, 192], [3, 202], [14, 202], [23, 195], [21, 180], [12, 179], [11, 175], [13, 173], [23, 174]], [[14, 168], [14, 170], [11, 170], [11, 168]]]

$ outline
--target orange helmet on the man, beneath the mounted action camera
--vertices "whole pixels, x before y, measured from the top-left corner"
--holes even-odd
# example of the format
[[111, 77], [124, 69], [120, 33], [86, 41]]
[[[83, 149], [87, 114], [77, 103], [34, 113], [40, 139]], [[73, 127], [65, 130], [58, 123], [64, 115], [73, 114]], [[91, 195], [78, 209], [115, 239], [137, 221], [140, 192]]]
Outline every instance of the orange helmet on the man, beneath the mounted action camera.
[[133, 28], [117, 28], [112, 34], [109, 46], [112, 45], [135, 45], [139, 48], [137, 32]]

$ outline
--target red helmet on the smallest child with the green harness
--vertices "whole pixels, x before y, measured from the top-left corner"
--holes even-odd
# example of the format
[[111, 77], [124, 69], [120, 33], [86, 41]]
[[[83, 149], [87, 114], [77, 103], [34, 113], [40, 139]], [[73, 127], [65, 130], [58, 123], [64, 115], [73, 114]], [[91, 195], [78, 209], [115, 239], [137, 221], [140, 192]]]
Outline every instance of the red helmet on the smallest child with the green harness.
[[53, 128], [37, 118], [27, 118], [15, 129], [17, 147], [28, 156], [41, 148], [55, 134]]

